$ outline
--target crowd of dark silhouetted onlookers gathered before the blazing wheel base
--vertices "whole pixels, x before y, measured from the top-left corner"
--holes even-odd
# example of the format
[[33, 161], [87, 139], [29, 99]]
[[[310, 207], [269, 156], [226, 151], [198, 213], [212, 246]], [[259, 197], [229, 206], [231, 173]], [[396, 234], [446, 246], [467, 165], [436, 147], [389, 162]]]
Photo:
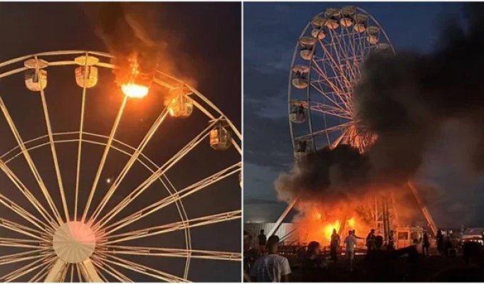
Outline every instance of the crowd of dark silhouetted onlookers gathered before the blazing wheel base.
[[[244, 231], [244, 280], [246, 282], [287, 282], [291, 278], [291, 267], [288, 258], [280, 255], [278, 236], [267, 238], [263, 230], [257, 236], [258, 246], [253, 246], [253, 238]], [[431, 238], [423, 233], [421, 238], [413, 240], [413, 244], [404, 248], [396, 249], [394, 232], [391, 231], [388, 238], [375, 233], [371, 229], [366, 237], [357, 236], [356, 231], [347, 231], [347, 236], [342, 238], [333, 229], [329, 249], [330, 253], [322, 253], [323, 247], [317, 241], [310, 241], [299, 256], [301, 275], [297, 280], [305, 282], [321, 282], [328, 278], [332, 267], [346, 266], [347, 271], [354, 272], [355, 254], [358, 240], [364, 242], [366, 251], [359, 258], [358, 273], [368, 281], [400, 281], [408, 275], [415, 275], [419, 270], [419, 250], [421, 246], [423, 256], [430, 256]], [[452, 257], [453, 246], [448, 237], [444, 237], [441, 231], [436, 236], [438, 255]], [[344, 251], [341, 248], [344, 247]], [[465, 263], [475, 264], [480, 261], [482, 249], [478, 243], [463, 245], [463, 258]], [[343, 263], [338, 264], [343, 261]], [[404, 273], [401, 272], [404, 261]], [[345, 264], [346, 263], [346, 264]], [[398, 264], [397, 264], [398, 263]], [[396, 269], [399, 266], [399, 269]], [[442, 276], [443, 275], [443, 276]], [[451, 276], [441, 274], [441, 277], [449, 279]], [[477, 276], [476, 276], [477, 277]]]

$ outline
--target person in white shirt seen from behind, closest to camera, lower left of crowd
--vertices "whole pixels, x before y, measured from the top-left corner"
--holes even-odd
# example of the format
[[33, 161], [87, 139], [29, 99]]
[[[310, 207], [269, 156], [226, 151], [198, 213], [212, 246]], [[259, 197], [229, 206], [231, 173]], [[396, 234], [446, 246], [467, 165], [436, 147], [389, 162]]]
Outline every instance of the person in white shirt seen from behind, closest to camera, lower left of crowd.
[[251, 268], [253, 282], [289, 282], [291, 273], [288, 258], [278, 255], [279, 237], [270, 236], [268, 254], [261, 256]]

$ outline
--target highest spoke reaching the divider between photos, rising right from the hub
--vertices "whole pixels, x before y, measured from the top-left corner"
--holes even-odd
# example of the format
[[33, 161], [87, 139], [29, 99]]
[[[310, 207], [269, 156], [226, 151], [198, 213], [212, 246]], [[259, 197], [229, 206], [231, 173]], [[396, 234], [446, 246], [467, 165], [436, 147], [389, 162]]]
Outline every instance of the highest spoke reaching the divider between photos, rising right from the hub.
[[103, 230], [107, 231], [106, 234], [112, 234], [112, 232], [122, 229], [125, 226], [128, 226], [129, 224], [137, 222], [138, 220], [144, 217], [147, 217], [149, 214], [152, 214], [154, 212], [159, 211], [159, 209], [167, 207], [169, 204], [177, 202], [178, 200], [181, 200], [184, 197], [192, 195], [195, 192], [199, 192], [200, 190], [203, 190], [204, 188], [209, 187], [209, 185], [213, 185], [214, 183], [219, 182], [224, 178], [227, 178], [233, 175], [234, 173], [240, 172], [241, 165], [242, 165], [241, 162], [236, 163], [235, 165], [231, 165], [230, 167], [225, 168], [219, 171], [218, 173], [215, 173], [214, 175], [204, 178], [203, 180], [199, 180], [198, 182], [195, 182], [193, 185], [189, 185], [188, 187], [185, 187], [183, 190], [179, 190], [178, 192], [172, 195], [169, 195], [168, 197], [165, 197], [162, 200], [154, 202], [153, 204], [148, 205], [147, 207], [144, 207], [143, 209], [133, 214], [130, 214], [128, 217], [125, 217], [120, 221], [115, 222], [114, 224], [111, 224], [110, 226], [106, 226]]

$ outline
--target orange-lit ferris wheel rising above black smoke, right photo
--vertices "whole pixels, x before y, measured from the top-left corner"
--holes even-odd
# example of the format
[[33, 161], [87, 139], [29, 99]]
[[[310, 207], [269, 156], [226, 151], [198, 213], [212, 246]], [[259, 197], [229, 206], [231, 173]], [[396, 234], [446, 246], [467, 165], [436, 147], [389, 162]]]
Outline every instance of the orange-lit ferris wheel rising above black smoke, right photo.
[[349, 144], [360, 152], [375, 136], [361, 129], [352, 102], [362, 63], [370, 53], [394, 53], [369, 13], [354, 6], [326, 9], [312, 18], [295, 47], [288, 86], [295, 158]]

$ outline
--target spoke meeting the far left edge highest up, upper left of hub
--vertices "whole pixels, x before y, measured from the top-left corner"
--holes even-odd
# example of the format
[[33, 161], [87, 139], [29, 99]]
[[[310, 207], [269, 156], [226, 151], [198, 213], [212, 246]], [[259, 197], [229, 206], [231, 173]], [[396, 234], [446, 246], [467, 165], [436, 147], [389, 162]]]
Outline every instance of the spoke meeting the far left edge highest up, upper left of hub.
[[9, 111], [8, 109], [6, 108], [6, 105], [4, 103], [4, 100], [0, 97], [0, 108], [1, 108], [1, 111], [4, 113], [4, 116], [5, 116], [5, 119], [7, 121], [7, 123], [9, 124], [10, 126], [10, 129], [12, 131], [12, 133], [14, 134], [15, 136], [15, 139], [17, 141], [17, 143], [19, 144], [20, 148], [21, 148], [21, 151], [23, 153], [23, 156], [24, 158], [26, 159], [27, 163], [28, 163], [28, 166], [29, 168], [31, 169], [31, 172], [33, 174], [33, 177], [36, 178], [37, 180], [37, 183], [38, 183], [38, 186], [41, 187], [41, 191], [44, 195], [44, 197], [46, 197], [46, 200], [47, 200], [47, 203], [48, 203], [48, 206], [51, 208], [54, 216], [56, 217], [57, 219], [57, 222], [59, 224], [62, 224], [62, 218], [61, 218], [61, 215], [59, 214], [59, 212], [57, 211], [57, 208], [56, 208], [56, 205], [54, 204], [53, 200], [52, 200], [52, 197], [51, 195], [49, 194], [47, 188], [46, 188], [46, 185], [43, 183], [43, 180], [41, 178], [41, 175], [38, 173], [38, 170], [36, 168], [36, 165], [33, 163], [33, 160], [31, 158], [31, 155], [28, 153], [27, 149], [26, 149], [26, 146], [25, 144], [23, 143], [22, 141], [22, 138], [20, 136], [20, 133], [19, 131], [16, 129], [16, 126], [14, 124], [14, 121], [13, 119], [11, 118], [10, 114], [9, 114]]

